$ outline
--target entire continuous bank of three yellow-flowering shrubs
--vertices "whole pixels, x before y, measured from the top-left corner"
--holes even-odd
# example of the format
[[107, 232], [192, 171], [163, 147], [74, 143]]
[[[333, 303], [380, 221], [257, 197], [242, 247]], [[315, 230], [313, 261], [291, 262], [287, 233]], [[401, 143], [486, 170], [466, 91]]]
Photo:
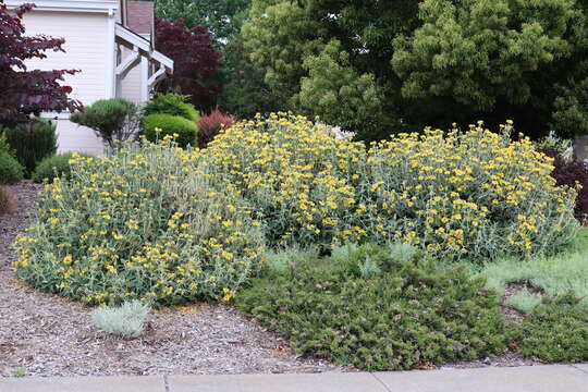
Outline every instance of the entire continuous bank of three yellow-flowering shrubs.
[[205, 150], [131, 144], [72, 159], [16, 241], [19, 277], [88, 304], [230, 301], [266, 246], [415, 244], [443, 258], [529, 255], [577, 230], [575, 191], [512, 126], [426, 130], [373, 144], [286, 113]]

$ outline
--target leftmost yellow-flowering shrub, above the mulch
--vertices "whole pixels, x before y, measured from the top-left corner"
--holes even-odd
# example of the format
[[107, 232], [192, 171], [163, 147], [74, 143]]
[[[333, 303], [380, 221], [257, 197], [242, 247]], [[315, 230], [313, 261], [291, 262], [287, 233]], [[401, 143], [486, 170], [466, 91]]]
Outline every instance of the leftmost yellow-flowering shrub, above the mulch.
[[171, 143], [72, 159], [16, 240], [17, 275], [86, 304], [231, 299], [257, 268], [262, 235], [198, 152]]

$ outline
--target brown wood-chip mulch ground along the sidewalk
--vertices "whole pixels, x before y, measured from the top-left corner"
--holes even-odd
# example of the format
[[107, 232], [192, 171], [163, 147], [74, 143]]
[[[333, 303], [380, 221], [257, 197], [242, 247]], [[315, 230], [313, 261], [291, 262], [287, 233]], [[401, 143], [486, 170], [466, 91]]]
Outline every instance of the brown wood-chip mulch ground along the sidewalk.
[[[294, 355], [286, 342], [220, 304], [154, 311], [139, 339], [96, 331], [90, 309], [24, 287], [12, 243], [34, 218], [40, 185], [12, 185], [15, 212], [0, 216], [0, 377], [353, 371]], [[443, 368], [534, 365], [504, 355]], [[430, 368], [434, 368], [431, 366]], [[19, 370], [20, 371], [20, 370]]]

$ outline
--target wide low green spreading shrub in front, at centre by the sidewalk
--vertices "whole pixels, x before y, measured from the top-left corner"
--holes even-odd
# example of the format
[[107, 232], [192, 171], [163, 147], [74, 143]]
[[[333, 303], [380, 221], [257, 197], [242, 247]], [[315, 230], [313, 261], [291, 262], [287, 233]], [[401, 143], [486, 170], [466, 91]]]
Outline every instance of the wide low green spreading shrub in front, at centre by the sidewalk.
[[[362, 277], [366, 257], [379, 273]], [[499, 299], [461, 266], [402, 261], [364, 245], [345, 259], [310, 259], [257, 279], [237, 307], [298, 354], [366, 370], [473, 359], [505, 346]]]

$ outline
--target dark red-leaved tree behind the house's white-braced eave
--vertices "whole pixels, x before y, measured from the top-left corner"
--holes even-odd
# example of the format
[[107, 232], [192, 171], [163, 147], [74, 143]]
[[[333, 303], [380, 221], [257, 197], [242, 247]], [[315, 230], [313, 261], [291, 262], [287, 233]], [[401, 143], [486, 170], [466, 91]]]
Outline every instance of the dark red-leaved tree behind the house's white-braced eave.
[[218, 84], [221, 52], [206, 27], [187, 28], [184, 20], [170, 23], [156, 19], [156, 47], [174, 62], [173, 75], [163, 79], [158, 90], [189, 95], [191, 102], [203, 111], [215, 107], [222, 91]]

